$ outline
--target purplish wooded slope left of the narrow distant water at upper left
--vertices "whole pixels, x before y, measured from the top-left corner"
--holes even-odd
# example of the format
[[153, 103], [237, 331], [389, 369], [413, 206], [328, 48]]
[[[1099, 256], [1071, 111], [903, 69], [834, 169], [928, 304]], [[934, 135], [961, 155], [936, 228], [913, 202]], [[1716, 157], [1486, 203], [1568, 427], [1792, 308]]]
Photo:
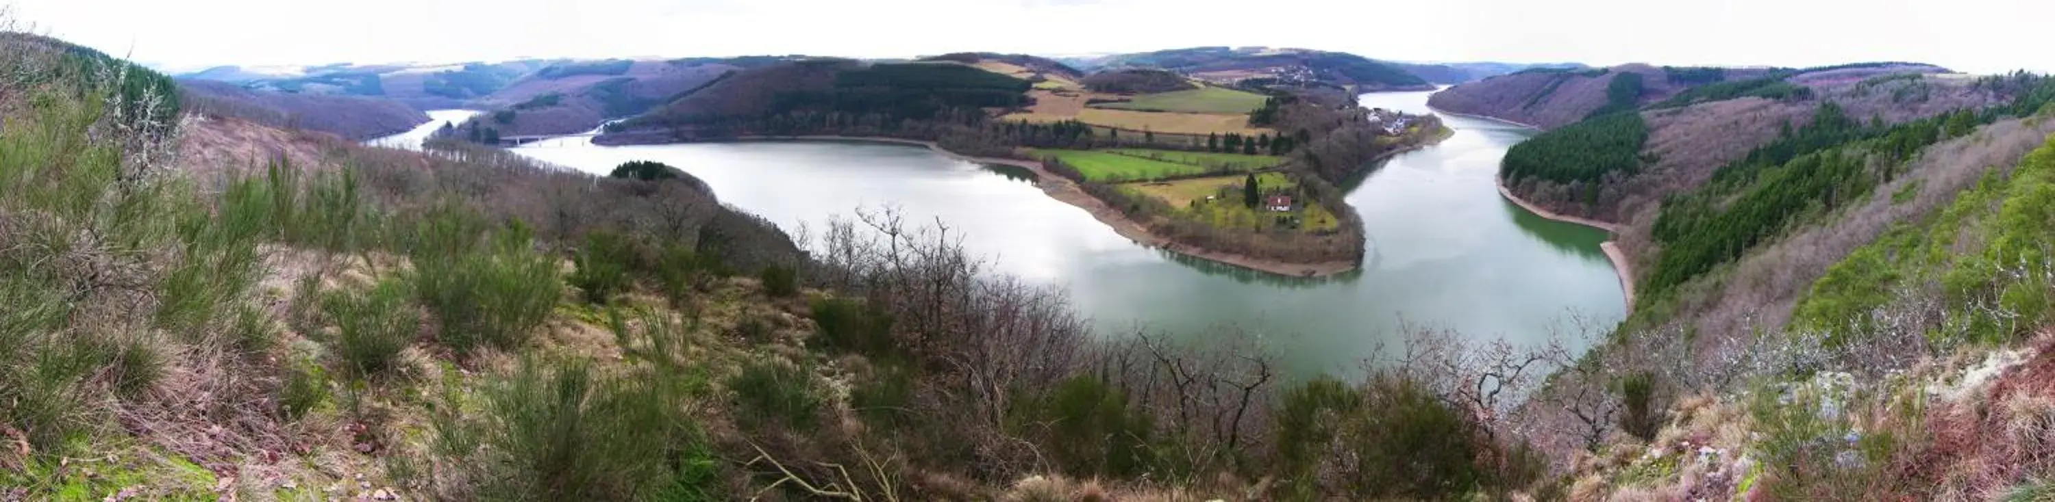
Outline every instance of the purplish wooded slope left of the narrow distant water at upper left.
[[427, 115], [388, 98], [284, 94], [247, 90], [228, 82], [181, 80], [187, 109], [238, 117], [279, 129], [310, 129], [345, 139], [368, 139], [407, 131]]

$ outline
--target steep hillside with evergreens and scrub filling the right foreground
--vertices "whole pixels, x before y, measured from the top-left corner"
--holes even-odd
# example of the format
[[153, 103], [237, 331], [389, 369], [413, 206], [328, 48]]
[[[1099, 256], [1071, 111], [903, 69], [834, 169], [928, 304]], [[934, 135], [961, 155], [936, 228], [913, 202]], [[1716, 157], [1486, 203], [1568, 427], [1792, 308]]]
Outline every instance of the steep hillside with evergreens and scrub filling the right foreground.
[[[1564, 479], [1568, 492], [2045, 494], [2055, 465], [2020, 430], [2055, 412], [2041, 385], [2055, 365], [2043, 252], [2055, 242], [2055, 84], [2018, 74], [1979, 86], [2020, 98], [1886, 127], [1823, 107], [1813, 125], [1667, 203], [1662, 258], [1646, 279], [1654, 301], [1541, 402], [1562, 406], [1552, 414], [1568, 424], [1619, 412], [1617, 424], [1586, 428], [1601, 457], [1681, 453], [1597, 459]], [[1619, 375], [1642, 391], [1586, 400], [1589, 385]], [[1611, 441], [1591, 441], [1607, 430]]]

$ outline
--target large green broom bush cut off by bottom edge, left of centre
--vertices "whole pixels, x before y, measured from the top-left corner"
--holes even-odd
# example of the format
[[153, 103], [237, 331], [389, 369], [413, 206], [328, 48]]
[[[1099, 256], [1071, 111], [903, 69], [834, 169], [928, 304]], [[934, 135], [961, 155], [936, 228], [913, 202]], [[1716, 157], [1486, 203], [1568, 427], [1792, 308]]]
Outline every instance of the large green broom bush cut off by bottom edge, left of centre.
[[668, 379], [602, 375], [584, 361], [534, 361], [481, 389], [479, 410], [446, 395], [436, 451], [479, 500], [717, 500], [719, 459]]

